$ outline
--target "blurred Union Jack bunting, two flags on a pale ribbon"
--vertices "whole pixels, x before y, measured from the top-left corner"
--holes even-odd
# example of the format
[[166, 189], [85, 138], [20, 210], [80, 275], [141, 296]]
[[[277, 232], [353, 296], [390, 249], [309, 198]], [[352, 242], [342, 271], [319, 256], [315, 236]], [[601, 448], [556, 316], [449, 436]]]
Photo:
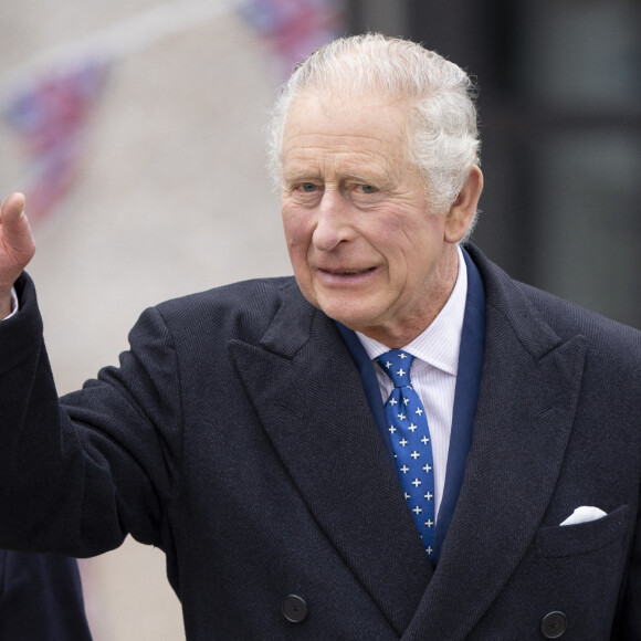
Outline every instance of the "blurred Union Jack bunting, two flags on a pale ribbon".
[[87, 154], [92, 113], [117, 61], [240, 11], [273, 53], [281, 81], [298, 60], [336, 35], [340, 1], [172, 0], [71, 43], [62, 56], [41, 56], [34, 72], [14, 70], [17, 83], [0, 78], [0, 86], [11, 85], [10, 91], [2, 87], [2, 114], [29, 158], [27, 176], [15, 187], [27, 193], [30, 219], [38, 223], [75, 183]]

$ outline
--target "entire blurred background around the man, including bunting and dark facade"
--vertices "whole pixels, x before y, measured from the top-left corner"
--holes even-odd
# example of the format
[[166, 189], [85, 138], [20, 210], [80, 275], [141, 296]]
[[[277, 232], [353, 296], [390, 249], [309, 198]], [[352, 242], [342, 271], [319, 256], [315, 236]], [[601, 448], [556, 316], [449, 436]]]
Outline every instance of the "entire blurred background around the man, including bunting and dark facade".
[[[117, 361], [145, 306], [291, 272], [274, 93], [368, 30], [475, 76], [485, 253], [641, 327], [639, 0], [3, 0], [0, 195], [28, 193], [61, 392]], [[185, 639], [159, 550], [128, 539], [81, 570], [96, 641]]]

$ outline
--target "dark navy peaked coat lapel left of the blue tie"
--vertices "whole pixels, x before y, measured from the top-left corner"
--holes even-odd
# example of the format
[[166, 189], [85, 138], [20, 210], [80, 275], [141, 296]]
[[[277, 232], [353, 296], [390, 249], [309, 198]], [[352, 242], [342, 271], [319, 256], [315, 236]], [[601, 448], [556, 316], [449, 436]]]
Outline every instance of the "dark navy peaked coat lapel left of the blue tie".
[[292, 282], [262, 340], [230, 351], [314, 518], [402, 633], [433, 570], [334, 323]]

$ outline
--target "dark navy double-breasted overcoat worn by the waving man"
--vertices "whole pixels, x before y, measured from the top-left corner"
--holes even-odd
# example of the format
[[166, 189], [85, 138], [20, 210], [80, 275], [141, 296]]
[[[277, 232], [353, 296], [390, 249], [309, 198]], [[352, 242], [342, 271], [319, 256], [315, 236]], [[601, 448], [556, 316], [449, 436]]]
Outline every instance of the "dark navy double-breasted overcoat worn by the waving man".
[[[641, 334], [486, 293], [434, 569], [336, 326], [291, 277], [164, 303], [60, 402], [32, 283], [0, 324], [0, 546], [162, 548], [190, 641], [641, 639]], [[607, 516], [559, 524], [580, 505]]]

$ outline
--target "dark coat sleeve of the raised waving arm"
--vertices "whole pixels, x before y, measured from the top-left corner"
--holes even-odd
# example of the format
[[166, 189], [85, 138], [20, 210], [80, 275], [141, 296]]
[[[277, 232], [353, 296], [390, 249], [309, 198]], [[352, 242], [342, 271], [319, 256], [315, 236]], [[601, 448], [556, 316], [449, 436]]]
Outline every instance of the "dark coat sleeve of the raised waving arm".
[[155, 309], [130, 333], [119, 367], [60, 401], [33, 284], [0, 324], [0, 546], [82, 557], [127, 534], [162, 547], [178, 475], [179, 374]]

